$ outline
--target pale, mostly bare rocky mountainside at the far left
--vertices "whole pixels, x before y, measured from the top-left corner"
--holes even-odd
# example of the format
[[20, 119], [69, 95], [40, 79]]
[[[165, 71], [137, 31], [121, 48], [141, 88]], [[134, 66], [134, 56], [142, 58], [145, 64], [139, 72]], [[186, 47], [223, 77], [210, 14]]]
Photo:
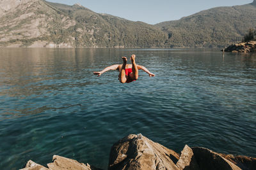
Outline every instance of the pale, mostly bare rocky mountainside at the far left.
[[0, 9], [1, 46], [46, 45], [46, 42], [74, 45], [72, 37], [68, 35], [64, 39], [60, 31], [72, 32], [76, 21], [45, 1], [2, 0]]

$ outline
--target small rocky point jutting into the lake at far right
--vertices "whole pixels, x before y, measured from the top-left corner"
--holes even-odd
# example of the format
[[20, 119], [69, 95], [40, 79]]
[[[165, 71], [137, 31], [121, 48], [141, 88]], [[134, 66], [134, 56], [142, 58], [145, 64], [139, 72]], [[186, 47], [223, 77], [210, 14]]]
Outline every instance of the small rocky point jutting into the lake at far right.
[[246, 43], [238, 43], [235, 45], [230, 45], [224, 49], [225, 52], [234, 52], [234, 53], [249, 53], [256, 52], [256, 41], [248, 41]]

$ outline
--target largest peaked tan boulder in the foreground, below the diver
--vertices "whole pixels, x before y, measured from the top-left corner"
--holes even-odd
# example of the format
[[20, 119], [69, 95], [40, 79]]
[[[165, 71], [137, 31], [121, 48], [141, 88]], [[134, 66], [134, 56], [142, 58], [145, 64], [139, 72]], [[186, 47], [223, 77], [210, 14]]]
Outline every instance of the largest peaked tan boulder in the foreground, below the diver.
[[115, 143], [109, 155], [108, 169], [179, 169], [179, 154], [150, 139], [130, 134]]

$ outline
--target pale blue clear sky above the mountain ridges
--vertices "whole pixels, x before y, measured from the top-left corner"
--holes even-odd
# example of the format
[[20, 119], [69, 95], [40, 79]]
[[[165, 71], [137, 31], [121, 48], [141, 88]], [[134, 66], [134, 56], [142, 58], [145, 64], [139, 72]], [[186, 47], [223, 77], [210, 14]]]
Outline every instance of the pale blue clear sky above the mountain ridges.
[[79, 3], [97, 13], [108, 13], [127, 20], [157, 24], [179, 20], [198, 11], [216, 6], [234, 6], [253, 0], [47, 0], [61, 4]]

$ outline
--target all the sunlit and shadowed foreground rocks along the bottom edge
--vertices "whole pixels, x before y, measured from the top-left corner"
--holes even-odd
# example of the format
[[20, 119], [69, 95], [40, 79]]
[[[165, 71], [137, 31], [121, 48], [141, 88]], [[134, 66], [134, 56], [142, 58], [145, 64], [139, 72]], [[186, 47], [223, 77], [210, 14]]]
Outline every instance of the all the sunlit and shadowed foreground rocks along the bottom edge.
[[[29, 160], [22, 170], [97, 169], [89, 164], [54, 155], [47, 167]], [[176, 153], [141, 134], [130, 134], [111, 147], [109, 170], [113, 169], [256, 169], [256, 159], [226, 155], [207, 148], [184, 146]]]

